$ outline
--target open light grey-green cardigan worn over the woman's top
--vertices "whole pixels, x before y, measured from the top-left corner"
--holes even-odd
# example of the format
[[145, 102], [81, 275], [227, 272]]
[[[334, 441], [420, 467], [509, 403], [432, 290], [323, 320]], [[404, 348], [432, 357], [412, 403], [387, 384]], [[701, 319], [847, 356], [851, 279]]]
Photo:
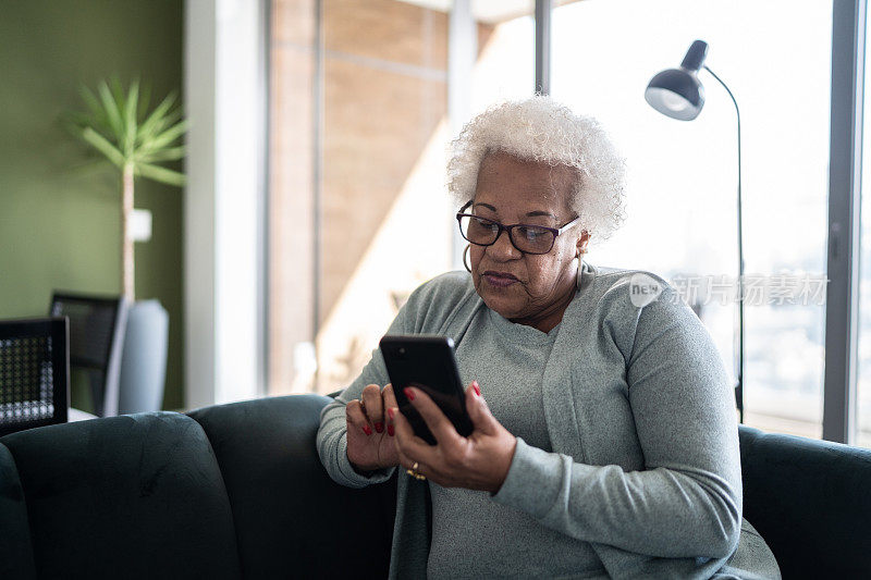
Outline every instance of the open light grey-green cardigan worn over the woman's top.
[[[736, 414], [720, 355], [662, 277], [646, 272], [664, 291], [635, 306], [636, 272], [582, 262], [581, 287], [542, 369], [552, 451], [518, 437], [491, 501], [589, 543], [611, 577], [776, 578], [773, 555], [741, 518]], [[444, 334], [459, 351], [463, 341], [488, 338], [474, 324], [487, 310], [470, 276], [451, 272], [412, 293], [388, 333]], [[318, 453], [334, 481], [361, 488], [395, 470], [366, 477], [346, 454], [344, 406], [365, 385], [387, 382], [376, 349], [321, 411]], [[400, 473], [391, 578], [426, 573], [429, 496], [427, 481]]]

